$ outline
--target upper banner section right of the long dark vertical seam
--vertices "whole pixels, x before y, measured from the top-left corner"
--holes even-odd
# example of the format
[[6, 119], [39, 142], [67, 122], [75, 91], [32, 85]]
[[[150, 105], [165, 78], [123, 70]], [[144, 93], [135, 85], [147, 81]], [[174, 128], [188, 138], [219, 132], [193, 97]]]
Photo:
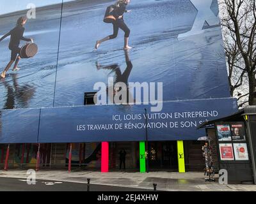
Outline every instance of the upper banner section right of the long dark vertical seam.
[[[228, 95], [216, 0], [72, 1], [63, 13], [56, 106], [84, 105], [95, 83], [108, 84], [109, 70], [124, 77], [123, 48], [132, 61], [129, 82], [163, 82], [164, 101]], [[95, 62], [120, 71], [99, 71]]]

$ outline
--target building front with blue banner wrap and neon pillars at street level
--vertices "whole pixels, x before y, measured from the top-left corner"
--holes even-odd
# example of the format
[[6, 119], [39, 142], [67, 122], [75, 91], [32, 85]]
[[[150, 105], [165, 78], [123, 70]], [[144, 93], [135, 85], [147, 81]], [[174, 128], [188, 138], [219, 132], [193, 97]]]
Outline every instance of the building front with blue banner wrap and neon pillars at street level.
[[[237, 111], [218, 1], [127, 1], [114, 7], [128, 12], [106, 24], [114, 3], [59, 1], [28, 18], [24, 36], [38, 53], [0, 82], [3, 168], [69, 163], [105, 172], [120, 168], [125, 150], [129, 170], [145, 172], [146, 161], [149, 170], [203, 170], [205, 130], [196, 127]], [[34, 12], [15, 4], [19, 11], [1, 15], [1, 35]], [[1, 67], [9, 41], [1, 41]]]

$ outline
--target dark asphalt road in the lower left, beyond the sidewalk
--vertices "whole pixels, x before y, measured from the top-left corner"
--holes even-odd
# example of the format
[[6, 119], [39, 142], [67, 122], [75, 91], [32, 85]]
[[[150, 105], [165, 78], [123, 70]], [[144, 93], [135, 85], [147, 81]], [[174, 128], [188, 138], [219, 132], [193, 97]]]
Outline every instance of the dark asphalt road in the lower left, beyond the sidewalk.
[[[0, 191], [87, 191], [87, 184], [36, 180], [35, 185], [28, 185], [26, 179], [1, 177]], [[90, 184], [90, 191], [148, 191], [148, 189]]]

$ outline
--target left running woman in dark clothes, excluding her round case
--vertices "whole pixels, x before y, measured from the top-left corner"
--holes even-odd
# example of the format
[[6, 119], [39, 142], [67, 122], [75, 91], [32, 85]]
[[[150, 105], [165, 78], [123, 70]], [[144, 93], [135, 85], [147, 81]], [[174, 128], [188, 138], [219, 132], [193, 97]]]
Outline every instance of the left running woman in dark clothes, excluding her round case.
[[10, 31], [9, 33], [5, 34], [0, 39], [0, 41], [2, 41], [2, 40], [4, 40], [4, 38], [7, 38], [8, 36], [11, 36], [10, 43], [9, 43], [9, 49], [11, 50], [11, 60], [7, 64], [7, 66], [4, 69], [4, 71], [1, 73], [1, 78], [5, 78], [6, 77], [6, 73], [7, 73], [8, 69], [10, 69], [10, 67], [12, 66], [13, 62], [15, 62], [15, 64], [13, 66], [12, 71], [19, 71], [18, 64], [19, 64], [19, 61], [20, 61], [20, 47], [19, 47], [20, 40], [33, 41], [32, 38], [25, 38], [23, 36], [24, 31], [25, 31], [24, 25], [26, 24], [26, 22], [27, 22], [27, 18], [26, 17], [19, 17], [19, 19], [17, 20], [17, 24], [12, 29], [12, 31]]

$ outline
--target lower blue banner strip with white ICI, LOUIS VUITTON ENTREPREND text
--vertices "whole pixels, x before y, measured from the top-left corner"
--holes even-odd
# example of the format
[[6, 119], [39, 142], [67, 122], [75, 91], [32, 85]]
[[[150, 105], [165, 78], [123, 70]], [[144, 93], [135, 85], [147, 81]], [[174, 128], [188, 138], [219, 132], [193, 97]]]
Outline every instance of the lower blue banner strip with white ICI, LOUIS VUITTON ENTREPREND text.
[[196, 129], [202, 122], [236, 110], [231, 98], [164, 102], [161, 112], [150, 112], [146, 105], [6, 110], [0, 119], [0, 143], [144, 141], [146, 128], [149, 141], [198, 140], [205, 136], [204, 129]]

